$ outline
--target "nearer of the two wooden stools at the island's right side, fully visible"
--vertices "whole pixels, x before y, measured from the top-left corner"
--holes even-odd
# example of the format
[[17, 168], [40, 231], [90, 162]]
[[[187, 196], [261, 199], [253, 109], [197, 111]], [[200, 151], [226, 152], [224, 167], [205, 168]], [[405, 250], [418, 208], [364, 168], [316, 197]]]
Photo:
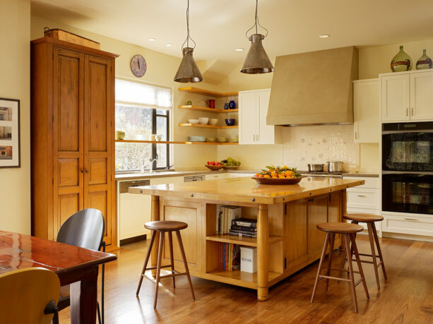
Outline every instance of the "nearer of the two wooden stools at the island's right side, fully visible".
[[[365, 282], [364, 272], [362, 271], [360, 256], [358, 254], [358, 250], [357, 250], [357, 246], [356, 246], [356, 242], [355, 242], [355, 234], [357, 232], [361, 232], [363, 227], [360, 225], [357, 225], [357, 224], [342, 223], [342, 222], [322, 223], [322, 224], [317, 224], [316, 227], [317, 227], [317, 229], [319, 229], [323, 232], [326, 232], [326, 237], [325, 237], [325, 242], [324, 242], [324, 249], [321, 253], [321, 258], [319, 261], [319, 269], [317, 270], [316, 281], [314, 282], [314, 288], [313, 288], [313, 294], [312, 294], [312, 304], [314, 302], [314, 296], [316, 295], [316, 290], [317, 290], [317, 285], [319, 284], [319, 280], [321, 280], [321, 279], [326, 280], [326, 288], [325, 288], [326, 292], [328, 291], [328, 284], [329, 284], [330, 279], [342, 280], [342, 281], [350, 282], [350, 288], [352, 289], [353, 304], [355, 305], [355, 313], [357, 313], [358, 312], [358, 304], [357, 304], [357, 300], [356, 300], [355, 287], [358, 284], [360, 284], [360, 282], [362, 282], [362, 284], [364, 285], [365, 296], [367, 296], [367, 299], [369, 299], [369, 294], [368, 294], [368, 290], [367, 290], [367, 283]], [[342, 270], [340, 268], [331, 268], [332, 253], [333, 253], [333, 249], [334, 249], [334, 241], [336, 239], [336, 234], [341, 234], [344, 237], [345, 251], [346, 251], [345, 254], [346, 254], [346, 258], [348, 259], [349, 270], [343, 269], [343, 271], [348, 272], [350, 279], [342, 279], [340, 277], [331, 277], [330, 276], [331, 270], [339, 270], [339, 271]], [[352, 242], [353, 253], [355, 254], [355, 260], [357, 262], [359, 271], [355, 271], [352, 268], [352, 255], [350, 253], [350, 243], [349, 243], [350, 241]], [[322, 266], [324, 264], [324, 258], [326, 256], [326, 249], [328, 248], [328, 245], [329, 245], [328, 267], [326, 268], [326, 275], [321, 275], [320, 273], [321, 273]], [[357, 282], [355, 282], [355, 280], [353, 278], [354, 273], [358, 273], [361, 275], [361, 279], [358, 280]]]

